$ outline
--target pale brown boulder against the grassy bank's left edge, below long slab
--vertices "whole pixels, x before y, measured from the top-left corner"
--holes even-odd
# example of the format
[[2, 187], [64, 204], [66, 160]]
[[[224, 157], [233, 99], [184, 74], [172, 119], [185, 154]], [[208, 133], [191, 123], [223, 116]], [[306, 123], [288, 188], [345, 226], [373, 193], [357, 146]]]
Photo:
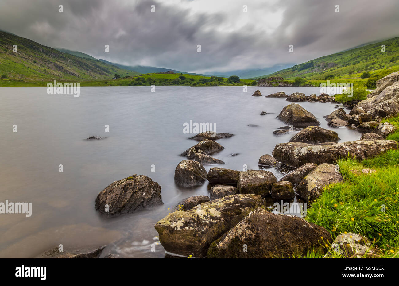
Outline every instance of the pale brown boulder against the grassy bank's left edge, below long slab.
[[322, 194], [324, 186], [338, 183], [342, 179], [343, 177], [336, 165], [321, 164], [302, 179], [296, 188], [296, 192], [307, 203], [312, 203]]

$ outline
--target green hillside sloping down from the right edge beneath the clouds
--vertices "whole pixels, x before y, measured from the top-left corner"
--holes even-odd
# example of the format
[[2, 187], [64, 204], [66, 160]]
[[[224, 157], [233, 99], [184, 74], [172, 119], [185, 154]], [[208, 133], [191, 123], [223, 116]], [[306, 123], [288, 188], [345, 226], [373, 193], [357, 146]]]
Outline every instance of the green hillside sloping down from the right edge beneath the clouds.
[[[381, 52], [381, 45], [385, 45], [385, 52]], [[308, 80], [324, 80], [326, 77], [356, 78], [359, 77], [356, 74], [365, 71], [377, 72], [393, 67], [396, 69], [398, 60], [399, 37], [395, 37], [319, 57], [262, 77], [279, 76], [284, 79], [302, 77]]]

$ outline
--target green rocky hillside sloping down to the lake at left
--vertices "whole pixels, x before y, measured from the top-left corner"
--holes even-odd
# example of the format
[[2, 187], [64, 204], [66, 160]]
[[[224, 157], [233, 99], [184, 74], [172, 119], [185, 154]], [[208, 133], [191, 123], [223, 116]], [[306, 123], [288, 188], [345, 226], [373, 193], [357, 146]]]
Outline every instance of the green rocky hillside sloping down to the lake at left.
[[[17, 45], [16, 53], [13, 52], [13, 45]], [[30, 39], [0, 31], [0, 74], [2, 78], [8, 78], [8, 81], [39, 83], [53, 80], [102, 80], [112, 78], [115, 73], [121, 76], [138, 74], [97, 59], [63, 53]]]

